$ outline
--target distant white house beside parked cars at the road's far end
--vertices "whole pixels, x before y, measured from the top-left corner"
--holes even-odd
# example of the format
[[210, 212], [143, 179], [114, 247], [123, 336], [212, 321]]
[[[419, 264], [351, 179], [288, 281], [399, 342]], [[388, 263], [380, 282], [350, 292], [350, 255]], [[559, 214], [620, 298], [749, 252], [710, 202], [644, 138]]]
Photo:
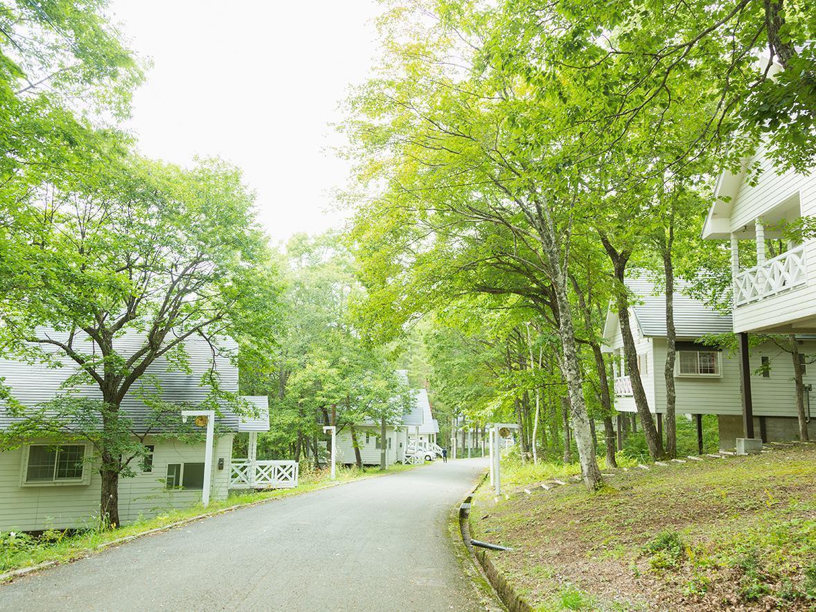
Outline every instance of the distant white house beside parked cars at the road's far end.
[[[406, 370], [397, 370], [397, 376], [407, 384]], [[436, 443], [439, 424], [433, 418], [431, 405], [428, 401], [428, 392], [425, 389], [411, 389], [414, 395], [413, 404], [401, 419], [395, 424], [386, 427], [385, 444], [386, 460], [388, 464], [405, 460], [406, 447], [419, 440], [421, 442]], [[357, 430], [357, 446], [360, 449], [360, 459], [363, 465], [379, 465], [382, 446], [381, 426], [371, 419], [355, 424]], [[356, 455], [351, 431], [348, 427], [337, 432], [337, 461], [350, 465], [355, 463]]]

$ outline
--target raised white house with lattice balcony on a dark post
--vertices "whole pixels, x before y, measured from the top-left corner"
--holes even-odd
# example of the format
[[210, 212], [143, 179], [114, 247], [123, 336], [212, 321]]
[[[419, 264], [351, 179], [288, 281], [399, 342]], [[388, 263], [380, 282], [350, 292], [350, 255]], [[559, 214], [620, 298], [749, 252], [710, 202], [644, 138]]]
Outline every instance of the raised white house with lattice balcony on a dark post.
[[[759, 149], [738, 171], [717, 180], [716, 198], [703, 237], [730, 240], [734, 288], [734, 332], [747, 361], [748, 333], [816, 332], [816, 240], [805, 237], [779, 246], [780, 223], [816, 214], [816, 176], [794, 170], [778, 174]], [[774, 245], [776, 248], [774, 249]], [[743, 269], [741, 259], [751, 265]], [[743, 435], [756, 441], [750, 370], [743, 367]]]

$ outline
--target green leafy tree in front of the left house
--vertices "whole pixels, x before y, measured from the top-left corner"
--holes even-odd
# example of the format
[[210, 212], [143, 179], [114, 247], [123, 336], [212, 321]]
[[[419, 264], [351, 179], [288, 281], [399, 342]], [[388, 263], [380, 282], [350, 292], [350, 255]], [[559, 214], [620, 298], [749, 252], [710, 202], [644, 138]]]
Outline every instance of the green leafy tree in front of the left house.
[[[118, 525], [119, 477], [139, 455], [124, 398], [151, 387], [146, 370], [159, 357], [185, 369], [184, 343], [198, 339], [214, 356], [202, 380], [212, 389], [211, 406], [219, 410], [221, 400], [242, 410], [220, 388], [215, 355], [231, 336], [245, 362], [264, 358], [277, 287], [251, 193], [232, 166], [203, 160], [184, 171], [126, 157], [94, 171], [32, 193], [37, 223], [15, 228], [18, 243], [29, 244], [18, 255], [31, 277], [6, 296], [13, 307], [0, 320], [14, 340], [8, 351], [46, 362], [66, 357], [76, 366], [69, 384], [99, 389], [99, 402], [81, 406], [82, 424], [93, 430], [83, 435], [100, 460], [101, 514]], [[128, 332], [140, 341], [119, 343]], [[66, 401], [53, 419], [42, 419], [42, 411], [16, 415], [38, 423], [4, 434], [7, 444], [19, 442], [20, 432], [60, 432], [79, 413]]]

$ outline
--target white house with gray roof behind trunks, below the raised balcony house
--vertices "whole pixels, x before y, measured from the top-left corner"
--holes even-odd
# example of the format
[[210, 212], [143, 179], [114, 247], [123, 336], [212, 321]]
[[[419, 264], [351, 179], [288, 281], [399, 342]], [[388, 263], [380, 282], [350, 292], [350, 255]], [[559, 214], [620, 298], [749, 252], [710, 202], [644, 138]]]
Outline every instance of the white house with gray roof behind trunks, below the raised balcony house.
[[[652, 413], [666, 412], [666, 301], [665, 295], [654, 295], [654, 286], [644, 277], [627, 281], [635, 298], [630, 308], [632, 335], [635, 338], [637, 362]], [[681, 289], [678, 287], [678, 289]], [[722, 334], [732, 329], [731, 317], [717, 313], [697, 299], [676, 292], [674, 297], [676, 327], [675, 388], [676, 414], [717, 415], [720, 446], [734, 448], [743, 432], [743, 405], [740, 390], [739, 356], [729, 350], [701, 344], [703, 336]], [[632, 383], [623, 360], [623, 338], [617, 311], [607, 312], [604, 338], [606, 353], [613, 353], [615, 408], [635, 412]], [[801, 353], [816, 353], [816, 341], [800, 339]], [[751, 349], [751, 382], [753, 415], [756, 431], [765, 441], [783, 441], [795, 437], [796, 387], [793, 382], [791, 353], [772, 342]], [[805, 385], [816, 383], [816, 368], [805, 366]], [[813, 395], [808, 388], [807, 398]], [[816, 401], [816, 397], [814, 397]], [[809, 401], [808, 401], [809, 408]], [[698, 420], [699, 423], [699, 420]], [[816, 433], [816, 420], [811, 426]]]

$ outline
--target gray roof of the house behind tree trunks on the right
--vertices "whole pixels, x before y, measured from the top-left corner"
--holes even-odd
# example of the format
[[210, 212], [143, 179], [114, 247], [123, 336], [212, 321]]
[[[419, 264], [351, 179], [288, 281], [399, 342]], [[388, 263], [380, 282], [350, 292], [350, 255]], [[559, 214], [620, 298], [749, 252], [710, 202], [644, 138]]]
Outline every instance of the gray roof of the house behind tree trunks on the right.
[[[716, 312], [699, 299], [685, 295], [687, 288], [681, 281], [675, 283], [674, 326], [678, 338], [699, 338], [707, 334], [725, 334], [734, 330], [730, 314]], [[655, 295], [654, 283], [646, 277], [632, 277], [626, 286], [636, 296], [632, 311], [645, 336], [666, 335], [666, 295], [662, 290]]]

